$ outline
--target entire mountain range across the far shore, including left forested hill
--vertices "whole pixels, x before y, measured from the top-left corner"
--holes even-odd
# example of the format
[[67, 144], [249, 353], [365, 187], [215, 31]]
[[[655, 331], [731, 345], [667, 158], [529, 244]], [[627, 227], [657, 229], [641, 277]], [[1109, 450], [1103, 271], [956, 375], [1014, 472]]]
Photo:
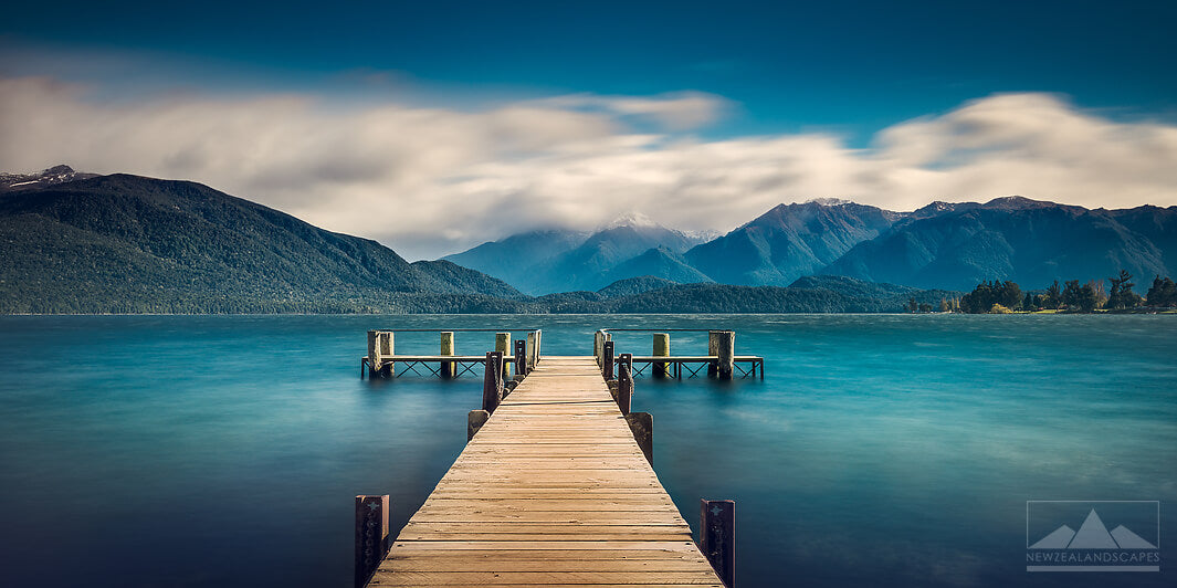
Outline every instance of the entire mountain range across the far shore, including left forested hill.
[[0, 174], [0, 239], [2, 313], [875, 312], [983, 280], [1172, 275], [1177, 207], [811, 201], [714, 239], [625, 219], [410, 263], [199, 183], [58, 166]]

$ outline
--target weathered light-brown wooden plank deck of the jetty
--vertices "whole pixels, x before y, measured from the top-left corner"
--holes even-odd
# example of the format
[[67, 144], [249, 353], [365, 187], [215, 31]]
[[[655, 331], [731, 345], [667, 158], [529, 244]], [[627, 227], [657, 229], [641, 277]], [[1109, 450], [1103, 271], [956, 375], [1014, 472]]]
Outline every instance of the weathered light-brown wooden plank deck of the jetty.
[[368, 586], [723, 587], [592, 356], [545, 356]]

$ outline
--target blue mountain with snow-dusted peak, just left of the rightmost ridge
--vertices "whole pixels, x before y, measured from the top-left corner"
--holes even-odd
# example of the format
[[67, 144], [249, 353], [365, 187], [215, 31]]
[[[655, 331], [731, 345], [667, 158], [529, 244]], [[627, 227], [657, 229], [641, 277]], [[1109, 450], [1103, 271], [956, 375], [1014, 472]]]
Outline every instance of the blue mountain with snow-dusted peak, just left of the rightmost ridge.
[[878, 236], [899, 216], [852, 202], [780, 205], [684, 258], [720, 283], [787, 286]]

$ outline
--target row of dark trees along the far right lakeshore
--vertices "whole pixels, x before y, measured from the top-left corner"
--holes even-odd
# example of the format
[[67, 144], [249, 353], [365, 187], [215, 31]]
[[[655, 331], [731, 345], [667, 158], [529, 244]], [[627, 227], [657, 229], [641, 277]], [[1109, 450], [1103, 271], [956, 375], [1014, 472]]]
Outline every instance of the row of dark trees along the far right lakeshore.
[[[940, 312], [952, 310], [971, 314], [1002, 314], [1015, 310], [1066, 310], [1075, 313], [1093, 313], [1097, 308], [1106, 310], [1130, 310], [1139, 307], [1171, 308], [1177, 307], [1177, 286], [1170, 278], [1157, 275], [1152, 279], [1152, 286], [1142, 296], [1132, 288], [1132, 274], [1126, 269], [1121, 269], [1119, 274], [1108, 278], [1109, 287], [1105, 289], [1102, 281], [1090, 280], [1080, 285], [1078, 280], [1066, 280], [1059, 285], [1055, 280], [1045, 292], [1023, 292], [1022, 288], [1010, 280], [984, 281], [977, 285], [972, 292], [956, 300], [942, 300]], [[911, 312], [924, 310], [923, 307], [915, 307], [910, 301], [907, 309]], [[931, 308], [927, 308], [931, 310]]]

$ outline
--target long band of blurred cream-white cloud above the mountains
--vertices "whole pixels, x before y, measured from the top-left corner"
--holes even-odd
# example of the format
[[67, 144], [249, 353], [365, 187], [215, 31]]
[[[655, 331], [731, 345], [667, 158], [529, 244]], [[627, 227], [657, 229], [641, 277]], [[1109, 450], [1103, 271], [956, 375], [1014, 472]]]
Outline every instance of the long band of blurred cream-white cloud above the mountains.
[[0, 169], [191, 179], [433, 258], [530, 228], [644, 214], [729, 230], [780, 202], [892, 209], [1020, 194], [1088, 207], [1177, 205], [1177, 127], [1116, 122], [1049, 94], [1002, 94], [879, 132], [701, 140], [703, 93], [571, 95], [484, 111], [310, 94], [97, 99], [0, 79]]

